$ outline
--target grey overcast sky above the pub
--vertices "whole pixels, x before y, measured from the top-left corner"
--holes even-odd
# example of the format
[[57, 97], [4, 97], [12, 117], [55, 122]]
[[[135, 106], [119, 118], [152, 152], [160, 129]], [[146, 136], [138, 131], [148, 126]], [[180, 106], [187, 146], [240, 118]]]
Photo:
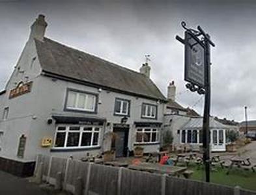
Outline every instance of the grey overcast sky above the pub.
[[0, 89], [14, 70], [30, 25], [44, 14], [46, 36], [63, 44], [136, 71], [149, 54], [151, 78], [160, 90], [166, 94], [174, 80], [178, 103], [203, 114], [203, 96], [185, 88], [184, 46], [175, 40], [177, 34], [184, 36], [180, 22], [186, 21], [189, 27], [201, 25], [216, 44], [211, 49], [211, 114], [241, 121], [246, 105], [248, 118], [256, 119], [256, 2], [41, 2], [0, 0]]

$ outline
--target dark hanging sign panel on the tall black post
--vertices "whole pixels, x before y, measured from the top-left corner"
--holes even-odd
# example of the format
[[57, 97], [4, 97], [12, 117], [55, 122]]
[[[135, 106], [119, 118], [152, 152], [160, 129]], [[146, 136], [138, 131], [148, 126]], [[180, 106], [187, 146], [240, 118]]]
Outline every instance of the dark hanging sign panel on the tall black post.
[[185, 81], [205, 87], [205, 46], [189, 31], [185, 32]]

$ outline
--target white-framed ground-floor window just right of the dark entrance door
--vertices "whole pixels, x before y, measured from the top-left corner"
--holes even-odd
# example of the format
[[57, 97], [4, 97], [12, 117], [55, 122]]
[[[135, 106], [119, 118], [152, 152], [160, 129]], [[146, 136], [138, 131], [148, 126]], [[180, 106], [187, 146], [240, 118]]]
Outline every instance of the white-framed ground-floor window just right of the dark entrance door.
[[156, 127], [138, 127], [136, 129], [135, 143], [157, 143], [159, 142], [159, 128]]

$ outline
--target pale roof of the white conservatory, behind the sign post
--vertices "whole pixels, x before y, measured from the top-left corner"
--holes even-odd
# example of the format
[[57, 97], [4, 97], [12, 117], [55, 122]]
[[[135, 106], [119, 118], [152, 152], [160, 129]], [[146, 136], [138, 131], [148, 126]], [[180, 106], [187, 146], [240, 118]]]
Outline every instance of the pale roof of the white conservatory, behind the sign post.
[[[203, 118], [197, 117], [197, 118], [190, 118], [190, 121], [186, 123], [181, 129], [199, 129], [203, 127]], [[225, 129], [227, 128], [226, 125], [223, 125], [222, 123], [214, 120], [214, 118], [210, 117], [210, 128], [217, 128], [217, 129]]]

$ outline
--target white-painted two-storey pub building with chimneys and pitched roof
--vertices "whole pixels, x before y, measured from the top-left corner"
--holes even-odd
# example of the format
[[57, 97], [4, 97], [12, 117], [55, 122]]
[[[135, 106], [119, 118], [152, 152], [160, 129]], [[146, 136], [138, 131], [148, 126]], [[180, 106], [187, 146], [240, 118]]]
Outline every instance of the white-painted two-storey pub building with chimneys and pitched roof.
[[0, 170], [27, 176], [38, 154], [101, 154], [113, 145], [108, 132], [117, 157], [159, 151], [166, 99], [149, 64], [129, 70], [46, 38], [46, 27], [39, 15], [0, 92]]

